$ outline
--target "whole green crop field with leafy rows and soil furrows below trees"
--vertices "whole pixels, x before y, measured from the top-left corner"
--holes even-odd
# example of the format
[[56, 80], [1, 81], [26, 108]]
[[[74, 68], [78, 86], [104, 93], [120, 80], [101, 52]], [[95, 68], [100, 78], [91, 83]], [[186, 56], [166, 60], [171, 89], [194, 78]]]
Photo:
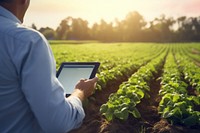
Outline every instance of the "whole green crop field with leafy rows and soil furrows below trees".
[[199, 43], [53, 42], [62, 62], [98, 61], [86, 117], [71, 133], [199, 133]]

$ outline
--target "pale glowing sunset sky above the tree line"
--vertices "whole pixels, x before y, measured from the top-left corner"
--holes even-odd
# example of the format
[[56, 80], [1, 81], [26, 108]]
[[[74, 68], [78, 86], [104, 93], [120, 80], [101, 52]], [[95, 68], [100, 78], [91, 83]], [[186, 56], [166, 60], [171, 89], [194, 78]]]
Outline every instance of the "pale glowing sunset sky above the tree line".
[[139, 12], [147, 22], [162, 14], [174, 18], [199, 17], [200, 0], [31, 0], [24, 24], [56, 29], [61, 20], [71, 16], [92, 25], [101, 19], [123, 20], [132, 11]]

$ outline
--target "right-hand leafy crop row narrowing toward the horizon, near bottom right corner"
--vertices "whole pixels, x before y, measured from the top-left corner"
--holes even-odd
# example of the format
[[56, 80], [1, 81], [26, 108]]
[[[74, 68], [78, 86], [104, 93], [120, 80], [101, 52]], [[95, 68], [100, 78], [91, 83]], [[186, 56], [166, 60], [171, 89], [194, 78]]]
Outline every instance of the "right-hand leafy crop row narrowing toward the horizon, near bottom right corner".
[[200, 112], [194, 110], [194, 103], [197, 103], [198, 98], [188, 95], [188, 85], [181, 77], [182, 74], [170, 53], [162, 76], [159, 113], [172, 124], [199, 125]]

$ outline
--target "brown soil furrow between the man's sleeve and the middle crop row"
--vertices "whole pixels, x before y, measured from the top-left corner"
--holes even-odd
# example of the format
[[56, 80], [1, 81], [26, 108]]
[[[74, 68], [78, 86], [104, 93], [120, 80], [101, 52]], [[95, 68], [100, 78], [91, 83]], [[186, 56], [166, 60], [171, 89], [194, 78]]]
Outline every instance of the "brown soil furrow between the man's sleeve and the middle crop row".
[[86, 117], [80, 128], [71, 131], [70, 133], [101, 133], [107, 129], [107, 122], [100, 114], [99, 110], [102, 104], [108, 101], [111, 93], [119, 89], [119, 85], [127, 80], [127, 77], [117, 78], [117, 81], [111, 81], [107, 87], [101, 91], [96, 91], [94, 96], [89, 98], [88, 104], [84, 107]]

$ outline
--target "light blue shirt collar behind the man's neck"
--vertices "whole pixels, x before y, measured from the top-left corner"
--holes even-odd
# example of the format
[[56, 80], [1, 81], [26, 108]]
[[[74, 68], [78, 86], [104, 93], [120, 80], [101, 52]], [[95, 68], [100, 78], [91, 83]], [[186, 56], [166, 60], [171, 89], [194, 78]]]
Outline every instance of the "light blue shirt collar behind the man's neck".
[[9, 10], [5, 9], [2, 6], [0, 6], [0, 16], [3, 16], [5, 18], [8, 18], [14, 22], [21, 24], [21, 21], [13, 13], [11, 13]]

